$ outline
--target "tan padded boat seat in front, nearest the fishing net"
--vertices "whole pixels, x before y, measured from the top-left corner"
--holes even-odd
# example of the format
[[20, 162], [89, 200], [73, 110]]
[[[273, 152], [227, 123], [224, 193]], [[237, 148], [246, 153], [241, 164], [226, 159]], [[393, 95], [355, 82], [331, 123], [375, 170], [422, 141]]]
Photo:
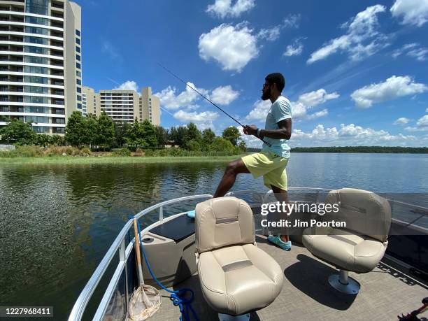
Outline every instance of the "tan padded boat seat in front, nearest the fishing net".
[[204, 298], [213, 310], [242, 315], [269, 306], [283, 287], [283, 270], [255, 245], [250, 206], [236, 197], [197, 204], [195, 239]]

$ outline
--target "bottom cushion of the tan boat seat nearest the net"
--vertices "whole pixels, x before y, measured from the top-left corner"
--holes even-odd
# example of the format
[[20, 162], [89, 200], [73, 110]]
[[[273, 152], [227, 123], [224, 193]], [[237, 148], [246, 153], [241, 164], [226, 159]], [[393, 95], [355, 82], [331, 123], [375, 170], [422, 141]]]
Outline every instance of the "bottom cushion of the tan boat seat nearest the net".
[[278, 263], [254, 244], [202, 252], [198, 273], [208, 304], [229, 315], [268, 306], [283, 286], [283, 271]]

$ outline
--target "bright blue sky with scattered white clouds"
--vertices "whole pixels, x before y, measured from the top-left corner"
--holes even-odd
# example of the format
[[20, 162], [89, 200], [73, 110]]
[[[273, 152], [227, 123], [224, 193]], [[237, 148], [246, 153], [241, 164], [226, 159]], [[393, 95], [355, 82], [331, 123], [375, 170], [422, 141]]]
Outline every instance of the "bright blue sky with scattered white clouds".
[[236, 123], [157, 62], [259, 127], [264, 77], [283, 73], [292, 146], [428, 145], [428, 0], [76, 2], [83, 84], [151, 86], [163, 127]]

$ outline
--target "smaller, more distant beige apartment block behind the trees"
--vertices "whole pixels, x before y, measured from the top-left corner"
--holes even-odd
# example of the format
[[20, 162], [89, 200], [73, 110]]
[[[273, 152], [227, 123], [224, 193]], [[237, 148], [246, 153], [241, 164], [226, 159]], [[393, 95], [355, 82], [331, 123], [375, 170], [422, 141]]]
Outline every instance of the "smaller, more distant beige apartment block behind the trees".
[[139, 122], [149, 120], [160, 125], [159, 98], [152, 96], [151, 87], [143, 87], [141, 96], [134, 90], [100, 90], [95, 93], [83, 86], [83, 115], [93, 113], [97, 116], [106, 112], [114, 122]]

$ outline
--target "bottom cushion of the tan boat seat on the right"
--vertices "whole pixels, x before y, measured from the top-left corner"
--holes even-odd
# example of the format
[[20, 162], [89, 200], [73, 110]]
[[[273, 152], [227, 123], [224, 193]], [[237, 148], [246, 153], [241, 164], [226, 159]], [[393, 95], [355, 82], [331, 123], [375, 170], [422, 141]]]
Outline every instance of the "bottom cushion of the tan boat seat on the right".
[[[338, 269], [366, 273], [374, 269], [385, 254], [387, 242], [350, 231], [321, 228], [304, 230], [303, 243], [315, 257], [320, 257]], [[314, 235], [315, 234], [315, 235]]]

